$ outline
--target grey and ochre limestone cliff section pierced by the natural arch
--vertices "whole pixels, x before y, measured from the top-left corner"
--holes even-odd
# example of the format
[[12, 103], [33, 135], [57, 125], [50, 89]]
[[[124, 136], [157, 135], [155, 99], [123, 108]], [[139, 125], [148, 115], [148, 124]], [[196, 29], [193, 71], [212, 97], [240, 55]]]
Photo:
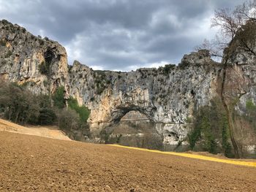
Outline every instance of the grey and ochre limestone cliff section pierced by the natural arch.
[[176, 143], [187, 136], [184, 126], [193, 110], [217, 96], [219, 70], [203, 50], [184, 55], [179, 66], [135, 72], [94, 72], [75, 61], [69, 70], [69, 93], [91, 110], [91, 129], [138, 111], [155, 123], [165, 142]]

